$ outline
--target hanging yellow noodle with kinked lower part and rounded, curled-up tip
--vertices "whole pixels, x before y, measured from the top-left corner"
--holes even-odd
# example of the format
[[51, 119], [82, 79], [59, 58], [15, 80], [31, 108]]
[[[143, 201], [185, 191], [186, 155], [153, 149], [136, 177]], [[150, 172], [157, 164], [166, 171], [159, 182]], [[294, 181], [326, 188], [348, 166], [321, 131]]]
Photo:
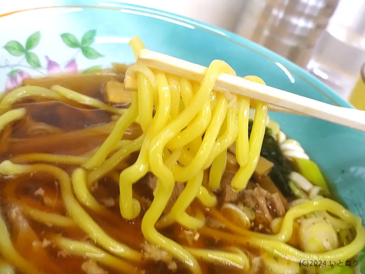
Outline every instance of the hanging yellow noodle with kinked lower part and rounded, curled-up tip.
[[[132, 184], [137, 182], [149, 171], [148, 149], [151, 139], [166, 125], [170, 113], [170, 89], [165, 73], [156, 73], [158, 86], [158, 106], [146, 138], [143, 140], [137, 161], [120, 173], [120, 213], [128, 220], [138, 216], [141, 206], [137, 199], [132, 198]], [[162, 155], [162, 151], [161, 151]]]

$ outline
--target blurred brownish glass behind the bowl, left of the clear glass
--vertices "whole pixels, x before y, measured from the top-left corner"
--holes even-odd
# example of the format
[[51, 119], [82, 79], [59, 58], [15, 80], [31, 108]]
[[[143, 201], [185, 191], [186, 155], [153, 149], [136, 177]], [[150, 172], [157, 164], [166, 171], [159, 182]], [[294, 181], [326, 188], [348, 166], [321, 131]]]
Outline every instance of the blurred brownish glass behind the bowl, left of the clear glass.
[[246, 0], [235, 32], [305, 68], [337, 3], [338, 0]]

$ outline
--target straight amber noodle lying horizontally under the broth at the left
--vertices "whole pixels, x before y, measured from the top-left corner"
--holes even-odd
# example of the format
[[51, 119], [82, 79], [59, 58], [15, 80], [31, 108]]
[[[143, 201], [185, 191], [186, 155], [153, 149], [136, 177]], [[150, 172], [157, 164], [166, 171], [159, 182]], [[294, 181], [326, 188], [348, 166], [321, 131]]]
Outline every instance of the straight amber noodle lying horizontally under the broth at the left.
[[28, 153], [17, 155], [11, 159], [15, 163], [48, 162], [77, 165], [85, 163], [89, 157], [73, 155], [55, 155], [50, 153]]

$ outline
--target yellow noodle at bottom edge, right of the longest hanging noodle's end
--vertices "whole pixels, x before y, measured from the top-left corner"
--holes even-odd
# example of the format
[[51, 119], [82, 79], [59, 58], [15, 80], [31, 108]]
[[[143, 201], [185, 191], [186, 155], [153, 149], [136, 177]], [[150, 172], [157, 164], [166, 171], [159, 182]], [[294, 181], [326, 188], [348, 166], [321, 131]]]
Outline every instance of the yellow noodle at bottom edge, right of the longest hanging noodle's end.
[[189, 250], [196, 258], [207, 262], [219, 263], [220, 265], [225, 266], [234, 266], [246, 271], [250, 268], [249, 259], [243, 252], [241, 254], [235, 254], [219, 250], [204, 250], [192, 247], [187, 247], [186, 249]]

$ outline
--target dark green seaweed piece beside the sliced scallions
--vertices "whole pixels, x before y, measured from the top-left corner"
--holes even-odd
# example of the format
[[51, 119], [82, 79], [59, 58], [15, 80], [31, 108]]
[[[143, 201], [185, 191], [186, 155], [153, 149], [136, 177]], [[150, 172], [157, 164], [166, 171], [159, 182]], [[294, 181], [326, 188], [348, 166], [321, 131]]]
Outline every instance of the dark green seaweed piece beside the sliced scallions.
[[[253, 121], [249, 121], [249, 136], [251, 135]], [[289, 175], [293, 171], [290, 162], [284, 157], [281, 152], [278, 142], [271, 135], [270, 129], [266, 128], [264, 141], [262, 142], [261, 156], [274, 164], [269, 172], [269, 177], [272, 179], [277, 188], [283, 193], [287, 199], [294, 198], [293, 191], [289, 187]]]

